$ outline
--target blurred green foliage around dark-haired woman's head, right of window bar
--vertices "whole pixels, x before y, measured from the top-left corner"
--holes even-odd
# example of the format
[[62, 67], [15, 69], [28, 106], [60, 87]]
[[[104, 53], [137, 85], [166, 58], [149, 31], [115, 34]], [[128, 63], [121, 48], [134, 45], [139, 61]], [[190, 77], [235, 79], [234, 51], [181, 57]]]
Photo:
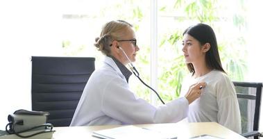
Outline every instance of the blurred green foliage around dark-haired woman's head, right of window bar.
[[[221, 17], [222, 15], [219, 15], [218, 13], [220, 13], [220, 11], [226, 7], [220, 6], [220, 1], [217, 0], [174, 1], [174, 12], [177, 10], [185, 11], [185, 19], [175, 20], [174, 24], [183, 24], [187, 21], [204, 22], [205, 24], [210, 24], [210, 26], [214, 28], [217, 36], [223, 36], [224, 33], [221, 33], [220, 31], [223, 30], [224, 26], [221, 26], [220, 23], [232, 22], [232, 26], [234, 27], [233, 31], [235, 31], [235, 28], [238, 28], [239, 31], [237, 32], [239, 35], [235, 35], [232, 37], [232, 39], [227, 38], [223, 40], [223, 42], [220, 42], [219, 53], [221, 55], [223, 67], [230, 76], [230, 79], [241, 81], [244, 79], [247, 69], [246, 49], [244, 49], [246, 41], [244, 39], [244, 32], [242, 32], [240, 29], [246, 26], [245, 17], [244, 15], [237, 13], [233, 15], [232, 20], [229, 20], [228, 17], [226, 17], [225, 19], [228, 20], [224, 21], [222, 20], [224, 17]], [[244, 3], [242, 6], [242, 8], [244, 8]], [[169, 9], [169, 6], [164, 6], [161, 9], [162, 10], [160, 10], [160, 12], [165, 12], [165, 10]], [[189, 24], [189, 26], [190, 25], [192, 24]], [[180, 48], [180, 43], [178, 42], [180, 42], [182, 39], [182, 31], [184, 29], [185, 28], [178, 28], [174, 30], [173, 33], [170, 33], [170, 35], [161, 36], [162, 39], [160, 40], [160, 47], [158, 51], [164, 51], [163, 49], [167, 49], [167, 47], [174, 48], [172, 49], [172, 51], [174, 51], [174, 57], [168, 61], [162, 59], [163, 57], [166, 58], [167, 54], [164, 53], [165, 56], [159, 56], [162, 66], [165, 66], [162, 68], [162, 72], [159, 72], [159, 88], [160, 90], [169, 90], [174, 92], [173, 95], [169, 94], [169, 91], [162, 94], [161, 96], [165, 101], [169, 101], [180, 95], [180, 83], [182, 83], [183, 77], [188, 71], [184, 63], [184, 58], [182, 54], [180, 54], [181, 50], [178, 49]], [[240, 49], [242, 51], [239, 51]], [[241, 56], [239, 56], [240, 54]]]

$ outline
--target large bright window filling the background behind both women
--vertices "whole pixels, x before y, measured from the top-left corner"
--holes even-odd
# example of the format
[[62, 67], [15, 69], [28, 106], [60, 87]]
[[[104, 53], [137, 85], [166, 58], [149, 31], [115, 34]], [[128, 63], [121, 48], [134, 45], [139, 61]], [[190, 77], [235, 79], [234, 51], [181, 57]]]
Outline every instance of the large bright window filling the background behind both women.
[[[260, 6], [261, 1], [239, 0], [0, 1], [0, 83], [6, 93], [0, 105], [9, 104], [0, 125], [13, 111], [31, 109], [31, 56], [92, 56], [99, 67], [103, 56], [94, 39], [112, 19], [135, 26], [140, 51], [134, 65], [166, 102], [178, 97], [187, 72], [180, 52], [182, 31], [201, 21], [214, 28], [223, 66], [233, 80], [263, 81]], [[147, 101], [155, 97], [135, 76], [130, 85]]]

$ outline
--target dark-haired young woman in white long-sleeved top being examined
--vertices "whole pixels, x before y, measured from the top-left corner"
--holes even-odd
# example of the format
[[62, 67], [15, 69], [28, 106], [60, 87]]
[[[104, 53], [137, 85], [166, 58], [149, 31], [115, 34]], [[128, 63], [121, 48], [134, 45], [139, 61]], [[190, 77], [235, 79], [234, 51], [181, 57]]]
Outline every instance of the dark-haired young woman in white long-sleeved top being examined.
[[187, 92], [193, 83], [207, 83], [201, 97], [189, 105], [188, 121], [218, 122], [241, 133], [235, 87], [221, 65], [213, 29], [206, 24], [187, 28], [183, 33], [183, 54], [190, 73], [183, 81], [181, 92]]

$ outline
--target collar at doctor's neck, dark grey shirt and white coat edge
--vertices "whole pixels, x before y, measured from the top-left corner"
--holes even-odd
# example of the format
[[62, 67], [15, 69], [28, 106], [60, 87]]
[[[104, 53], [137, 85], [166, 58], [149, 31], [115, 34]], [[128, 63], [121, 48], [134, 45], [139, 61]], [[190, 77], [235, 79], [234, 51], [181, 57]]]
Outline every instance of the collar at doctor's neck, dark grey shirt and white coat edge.
[[108, 63], [109, 65], [111, 65], [114, 68], [114, 70], [116, 70], [117, 72], [124, 75], [124, 77], [128, 83], [128, 80], [129, 80], [132, 72], [130, 72], [130, 70], [128, 70], [127, 67], [125, 67], [121, 62], [119, 62], [119, 60], [117, 60], [113, 56], [106, 56], [105, 57], [105, 63]]

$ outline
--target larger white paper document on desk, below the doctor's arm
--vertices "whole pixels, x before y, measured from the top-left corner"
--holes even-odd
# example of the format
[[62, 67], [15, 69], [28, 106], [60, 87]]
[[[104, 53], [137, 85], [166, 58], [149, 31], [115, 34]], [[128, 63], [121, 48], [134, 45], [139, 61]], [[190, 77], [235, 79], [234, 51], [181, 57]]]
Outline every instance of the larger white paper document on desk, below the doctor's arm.
[[[131, 139], [131, 138], [152, 138], [152, 139], [171, 139], [165, 137], [159, 131], [153, 131], [138, 126], [121, 126], [113, 129], [103, 129], [100, 131], [93, 131], [92, 136], [105, 139]], [[172, 138], [176, 139], [176, 137]]]

